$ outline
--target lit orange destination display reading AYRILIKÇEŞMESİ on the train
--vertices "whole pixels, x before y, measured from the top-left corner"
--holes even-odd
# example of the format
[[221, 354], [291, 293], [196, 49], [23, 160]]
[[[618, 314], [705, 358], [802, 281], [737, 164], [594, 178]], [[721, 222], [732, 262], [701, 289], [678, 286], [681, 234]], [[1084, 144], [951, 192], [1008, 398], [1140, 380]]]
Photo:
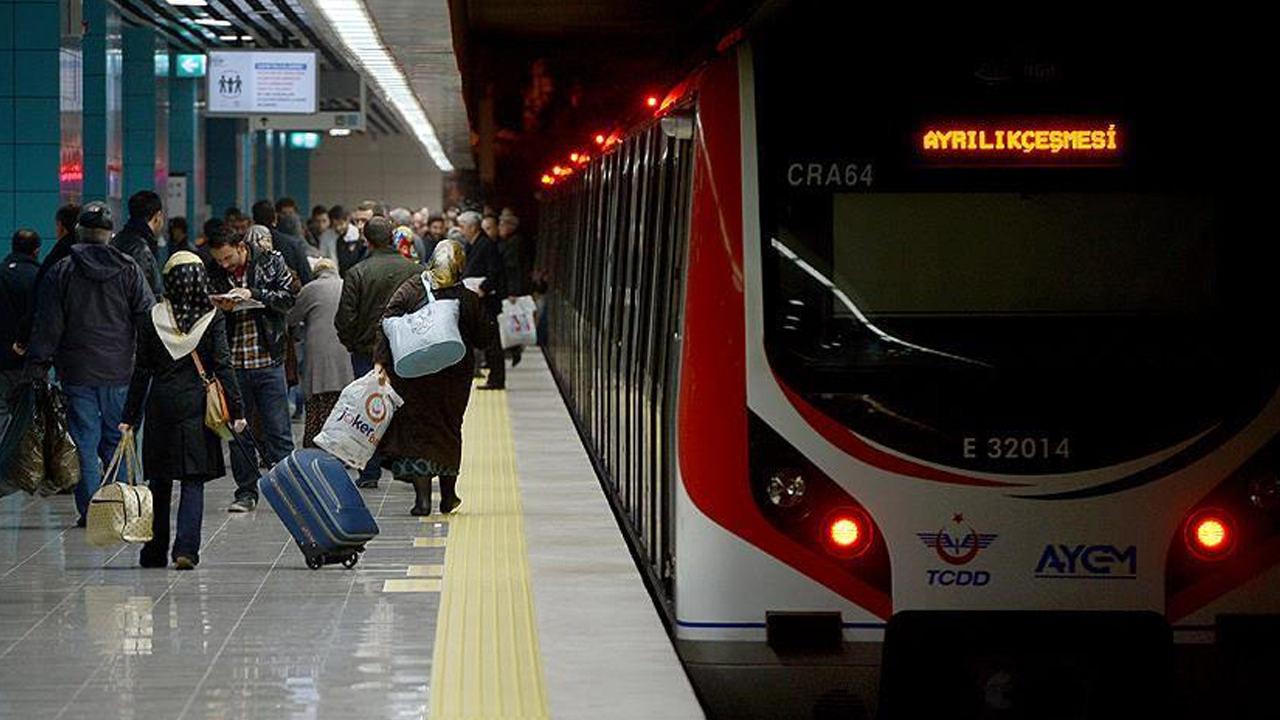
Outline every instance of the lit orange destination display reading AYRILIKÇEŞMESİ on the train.
[[1124, 138], [1114, 122], [974, 120], [924, 127], [916, 149], [931, 163], [1111, 165]]

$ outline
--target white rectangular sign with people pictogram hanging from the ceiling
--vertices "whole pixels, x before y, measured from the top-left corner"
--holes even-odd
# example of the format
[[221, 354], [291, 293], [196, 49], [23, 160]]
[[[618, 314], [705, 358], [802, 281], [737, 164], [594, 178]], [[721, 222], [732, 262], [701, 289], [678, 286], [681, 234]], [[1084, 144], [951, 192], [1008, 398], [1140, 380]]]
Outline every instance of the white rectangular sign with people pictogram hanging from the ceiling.
[[317, 64], [312, 50], [211, 50], [209, 113], [315, 113]]

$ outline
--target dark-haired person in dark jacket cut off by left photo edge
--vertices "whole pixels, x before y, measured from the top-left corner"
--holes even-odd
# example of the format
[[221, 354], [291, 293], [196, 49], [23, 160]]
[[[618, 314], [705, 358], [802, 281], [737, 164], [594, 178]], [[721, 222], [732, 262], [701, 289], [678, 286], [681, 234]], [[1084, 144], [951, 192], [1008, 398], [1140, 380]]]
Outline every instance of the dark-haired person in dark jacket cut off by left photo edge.
[[23, 318], [31, 314], [36, 273], [40, 270], [40, 234], [22, 228], [13, 233], [13, 250], [0, 264], [0, 428], [9, 421], [9, 395], [22, 382], [26, 363], [18, 354]]

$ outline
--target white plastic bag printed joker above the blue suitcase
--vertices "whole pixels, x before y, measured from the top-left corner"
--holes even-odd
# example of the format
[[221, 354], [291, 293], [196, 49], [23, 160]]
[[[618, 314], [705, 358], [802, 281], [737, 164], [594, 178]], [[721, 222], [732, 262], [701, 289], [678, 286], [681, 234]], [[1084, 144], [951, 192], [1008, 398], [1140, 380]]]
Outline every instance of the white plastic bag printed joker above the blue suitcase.
[[347, 465], [364, 468], [403, 404], [390, 383], [378, 382], [378, 370], [370, 370], [343, 388], [314, 442]]

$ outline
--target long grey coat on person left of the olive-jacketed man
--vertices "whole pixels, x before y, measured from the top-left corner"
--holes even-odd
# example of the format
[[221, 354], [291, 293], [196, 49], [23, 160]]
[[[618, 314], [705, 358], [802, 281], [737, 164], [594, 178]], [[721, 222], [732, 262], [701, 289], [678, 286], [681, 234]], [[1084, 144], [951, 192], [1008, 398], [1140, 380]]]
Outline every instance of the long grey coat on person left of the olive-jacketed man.
[[[342, 278], [337, 270], [321, 270], [289, 310], [289, 325], [306, 325], [307, 359], [302, 364], [302, 391], [307, 395], [340, 392], [351, 384], [351, 354], [338, 340], [333, 325], [342, 297]], [[294, 337], [298, 333], [294, 331]]]

